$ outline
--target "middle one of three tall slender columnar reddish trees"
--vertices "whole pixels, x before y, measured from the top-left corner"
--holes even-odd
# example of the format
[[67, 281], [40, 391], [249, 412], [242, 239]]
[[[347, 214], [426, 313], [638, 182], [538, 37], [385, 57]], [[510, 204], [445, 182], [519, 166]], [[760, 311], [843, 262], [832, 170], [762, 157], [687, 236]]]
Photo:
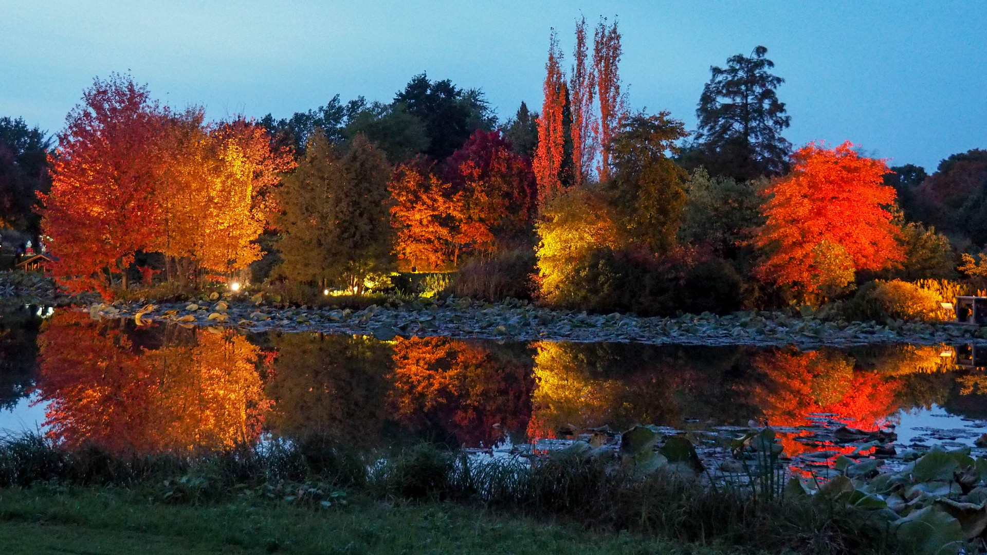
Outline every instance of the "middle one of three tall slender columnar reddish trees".
[[586, 180], [596, 160], [597, 136], [593, 99], [596, 91], [595, 67], [587, 64], [586, 18], [575, 24], [575, 47], [569, 74], [569, 104], [572, 115], [572, 185]]

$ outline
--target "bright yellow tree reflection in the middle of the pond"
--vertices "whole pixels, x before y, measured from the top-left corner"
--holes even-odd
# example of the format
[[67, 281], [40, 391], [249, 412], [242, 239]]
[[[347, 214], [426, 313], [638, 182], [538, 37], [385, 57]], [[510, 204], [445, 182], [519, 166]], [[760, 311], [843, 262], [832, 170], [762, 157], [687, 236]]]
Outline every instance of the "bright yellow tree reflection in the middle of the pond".
[[564, 426], [582, 429], [610, 422], [621, 382], [586, 375], [585, 364], [567, 344], [543, 341], [537, 348], [528, 436], [555, 437]]

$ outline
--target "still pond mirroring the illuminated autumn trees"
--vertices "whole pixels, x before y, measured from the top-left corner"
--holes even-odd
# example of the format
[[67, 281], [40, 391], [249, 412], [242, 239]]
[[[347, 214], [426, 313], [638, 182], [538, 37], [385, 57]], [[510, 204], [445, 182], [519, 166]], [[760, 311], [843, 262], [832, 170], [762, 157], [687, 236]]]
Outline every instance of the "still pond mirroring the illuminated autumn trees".
[[771, 426], [788, 456], [824, 467], [838, 453], [973, 446], [987, 432], [983, 353], [964, 345], [380, 341], [26, 307], [0, 315], [0, 357], [0, 435], [114, 452], [329, 436], [502, 454], [612, 443], [648, 424], [689, 434], [709, 458], [724, 437]]

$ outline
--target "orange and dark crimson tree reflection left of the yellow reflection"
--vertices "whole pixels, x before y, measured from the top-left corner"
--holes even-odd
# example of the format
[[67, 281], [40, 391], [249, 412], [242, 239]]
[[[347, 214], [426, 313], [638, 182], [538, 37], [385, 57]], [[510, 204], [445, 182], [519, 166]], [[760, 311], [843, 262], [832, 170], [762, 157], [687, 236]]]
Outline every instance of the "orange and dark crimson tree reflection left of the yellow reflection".
[[399, 339], [391, 404], [403, 422], [438, 427], [468, 445], [522, 430], [531, 412], [529, 366], [447, 338]]

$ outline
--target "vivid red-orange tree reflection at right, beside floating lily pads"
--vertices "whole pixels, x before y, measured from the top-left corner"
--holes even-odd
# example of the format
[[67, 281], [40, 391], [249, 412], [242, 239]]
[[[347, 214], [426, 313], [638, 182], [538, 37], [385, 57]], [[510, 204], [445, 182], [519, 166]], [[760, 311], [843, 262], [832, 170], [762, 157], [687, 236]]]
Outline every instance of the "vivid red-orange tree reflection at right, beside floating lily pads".
[[[851, 428], [875, 430], [897, 410], [901, 381], [854, 371], [853, 359], [779, 351], [759, 355], [754, 365], [767, 378], [754, 386], [753, 397], [770, 426], [810, 425], [810, 414], [831, 413]], [[806, 449], [791, 437], [782, 442], [790, 454]]]

